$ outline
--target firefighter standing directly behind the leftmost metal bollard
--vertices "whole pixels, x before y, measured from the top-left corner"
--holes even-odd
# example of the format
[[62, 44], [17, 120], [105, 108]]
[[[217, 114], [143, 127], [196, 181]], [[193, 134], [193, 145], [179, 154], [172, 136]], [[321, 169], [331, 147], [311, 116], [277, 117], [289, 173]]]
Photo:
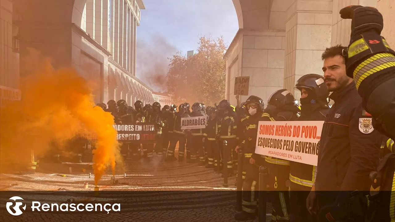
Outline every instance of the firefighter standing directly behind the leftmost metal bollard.
[[[228, 167], [228, 176], [233, 174], [233, 161], [232, 155], [235, 154], [235, 147], [236, 147], [236, 131], [237, 131], [237, 122], [236, 122], [236, 112], [233, 111], [228, 100], [222, 100], [219, 105], [218, 117], [220, 119], [221, 127], [220, 132], [218, 133], [217, 137], [220, 138], [220, 150], [222, 151], [222, 163], [227, 164]], [[227, 154], [224, 155], [222, 149], [223, 141], [227, 141]], [[237, 164], [237, 162], [235, 162]], [[223, 176], [223, 175], [222, 175]]]

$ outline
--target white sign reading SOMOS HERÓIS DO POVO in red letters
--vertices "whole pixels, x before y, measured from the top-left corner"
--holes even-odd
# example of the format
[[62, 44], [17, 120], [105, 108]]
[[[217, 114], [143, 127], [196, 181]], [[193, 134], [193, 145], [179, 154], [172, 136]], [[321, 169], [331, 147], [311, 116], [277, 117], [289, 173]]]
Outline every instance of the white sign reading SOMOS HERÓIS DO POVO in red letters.
[[255, 153], [317, 166], [324, 121], [260, 121]]

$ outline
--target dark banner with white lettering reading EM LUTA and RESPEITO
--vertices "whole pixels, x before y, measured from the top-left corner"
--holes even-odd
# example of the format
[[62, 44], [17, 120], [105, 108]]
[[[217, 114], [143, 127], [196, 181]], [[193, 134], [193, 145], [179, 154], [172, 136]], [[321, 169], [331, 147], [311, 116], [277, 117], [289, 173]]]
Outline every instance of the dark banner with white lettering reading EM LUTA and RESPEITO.
[[117, 130], [117, 139], [123, 143], [156, 143], [155, 125], [140, 122], [132, 125], [113, 125]]

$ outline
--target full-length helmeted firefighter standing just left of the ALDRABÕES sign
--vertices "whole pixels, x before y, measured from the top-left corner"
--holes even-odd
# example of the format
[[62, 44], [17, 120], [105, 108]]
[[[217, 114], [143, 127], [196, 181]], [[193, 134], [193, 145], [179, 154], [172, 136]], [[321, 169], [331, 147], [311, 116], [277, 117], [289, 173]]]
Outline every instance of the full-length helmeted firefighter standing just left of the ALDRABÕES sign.
[[179, 142], [178, 161], [182, 162], [184, 160], [186, 134], [184, 130], [181, 130], [181, 118], [189, 117], [189, 115], [186, 114], [186, 109], [186, 105], [182, 103], [178, 107], [178, 112], [175, 114], [173, 137], [170, 140], [169, 150], [167, 151], [167, 159], [169, 160], [175, 159], [174, 151], [177, 142]]

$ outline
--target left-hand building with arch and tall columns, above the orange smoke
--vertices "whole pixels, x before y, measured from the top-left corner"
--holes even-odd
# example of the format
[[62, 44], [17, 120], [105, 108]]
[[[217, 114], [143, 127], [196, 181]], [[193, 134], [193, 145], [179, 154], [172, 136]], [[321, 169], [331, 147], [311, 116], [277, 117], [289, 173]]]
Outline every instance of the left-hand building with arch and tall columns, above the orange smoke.
[[[145, 9], [143, 0], [1, 2], [2, 23], [3, 14], [6, 14], [3, 13], [3, 2], [10, 2], [12, 9], [8, 11], [8, 17], [13, 17], [13, 20], [7, 20], [8, 26], [17, 24], [19, 28], [19, 53], [14, 56], [12, 65], [2, 65], [1, 85], [18, 88], [19, 75], [23, 77], [29, 72], [24, 67], [30, 62], [32, 48], [50, 58], [54, 68], [73, 67], [93, 82], [95, 103], [120, 99], [129, 105], [136, 100], [153, 102], [151, 88], [135, 76], [136, 31], [140, 25], [141, 9]], [[12, 28], [7, 32], [2, 29], [1, 36], [5, 33], [11, 39], [13, 36], [9, 30]], [[7, 40], [6, 43], [9, 52], [12, 41]], [[0, 54], [2, 62], [3, 55]], [[5, 57], [12, 56], [9, 53]], [[12, 69], [3, 71], [3, 67]]]

